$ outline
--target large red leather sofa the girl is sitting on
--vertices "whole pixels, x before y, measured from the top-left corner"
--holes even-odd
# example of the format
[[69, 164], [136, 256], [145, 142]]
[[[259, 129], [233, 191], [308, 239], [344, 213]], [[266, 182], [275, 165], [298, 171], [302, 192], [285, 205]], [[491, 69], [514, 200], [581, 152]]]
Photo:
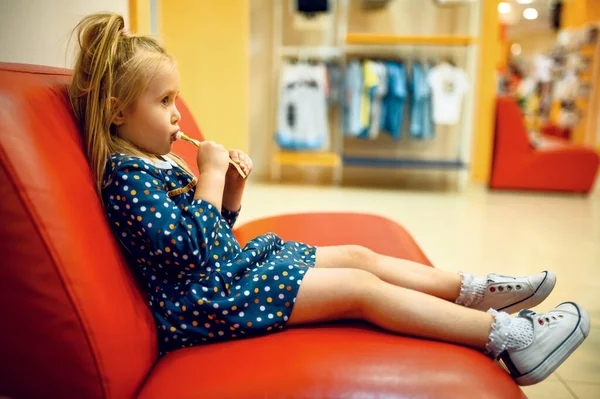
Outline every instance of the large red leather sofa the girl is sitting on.
[[[0, 396], [20, 398], [519, 398], [460, 346], [340, 322], [157, 357], [154, 323], [105, 220], [66, 96], [69, 73], [0, 64]], [[200, 138], [180, 104], [182, 129]], [[176, 151], [193, 164], [194, 147]], [[396, 223], [282, 215], [240, 226], [361, 244], [430, 265]]]

